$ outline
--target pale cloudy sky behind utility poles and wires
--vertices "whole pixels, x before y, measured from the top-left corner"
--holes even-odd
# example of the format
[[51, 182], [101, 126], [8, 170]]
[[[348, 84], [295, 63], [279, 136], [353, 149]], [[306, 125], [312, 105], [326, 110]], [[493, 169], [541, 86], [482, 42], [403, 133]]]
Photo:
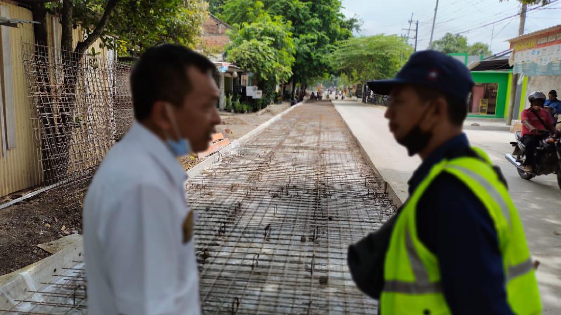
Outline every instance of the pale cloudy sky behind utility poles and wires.
[[[342, 0], [347, 17], [358, 16], [364, 24], [356, 35], [407, 35], [411, 13], [419, 20], [417, 50], [429, 46], [436, 0]], [[493, 53], [509, 48], [508, 39], [518, 36], [520, 4], [516, 0], [440, 0], [436, 13], [433, 40], [445, 33], [461, 33], [468, 44], [481, 41], [490, 45]], [[514, 16], [517, 15], [517, 16]], [[485, 26], [486, 24], [490, 24]], [[528, 6], [525, 34], [561, 24], [561, 0], [545, 7]], [[402, 30], [406, 29], [406, 30]], [[415, 22], [411, 25], [415, 36]], [[415, 43], [410, 39], [411, 44]]]

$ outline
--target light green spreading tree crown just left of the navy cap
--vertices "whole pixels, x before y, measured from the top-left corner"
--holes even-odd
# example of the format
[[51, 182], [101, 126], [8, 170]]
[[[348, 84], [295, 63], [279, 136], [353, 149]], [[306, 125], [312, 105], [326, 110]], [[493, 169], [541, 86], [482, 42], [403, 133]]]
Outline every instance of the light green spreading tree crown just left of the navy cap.
[[355, 84], [390, 78], [413, 53], [407, 41], [397, 35], [351, 38], [331, 55], [335, 71]]

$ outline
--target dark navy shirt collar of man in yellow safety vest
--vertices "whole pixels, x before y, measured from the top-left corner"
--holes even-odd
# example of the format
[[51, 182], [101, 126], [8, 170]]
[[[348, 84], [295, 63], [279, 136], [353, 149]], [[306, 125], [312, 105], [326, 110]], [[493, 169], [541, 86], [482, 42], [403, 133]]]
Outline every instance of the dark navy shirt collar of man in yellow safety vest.
[[429, 174], [430, 169], [433, 168], [434, 165], [442, 161], [446, 157], [448, 152], [454, 149], [461, 149], [469, 146], [470, 146], [470, 142], [467, 140], [466, 134], [462, 133], [461, 135], [458, 135], [448, 140], [442, 146], [434, 150], [421, 163], [419, 168], [417, 168], [415, 172], [413, 172], [413, 176], [411, 177], [409, 182], [407, 182], [409, 184], [409, 194], [411, 195], [415, 191], [415, 189], [417, 188], [417, 186], [419, 186], [421, 181], [426, 177], [427, 174]]

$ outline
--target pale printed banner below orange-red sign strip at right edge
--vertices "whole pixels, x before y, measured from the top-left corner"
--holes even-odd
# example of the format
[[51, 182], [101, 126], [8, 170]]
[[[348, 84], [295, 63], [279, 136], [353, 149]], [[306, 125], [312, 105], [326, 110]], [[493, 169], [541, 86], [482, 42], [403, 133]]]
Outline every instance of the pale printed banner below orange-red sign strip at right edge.
[[515, 52], [513, 73], [526, 76], [561, 75], [561, 44]]

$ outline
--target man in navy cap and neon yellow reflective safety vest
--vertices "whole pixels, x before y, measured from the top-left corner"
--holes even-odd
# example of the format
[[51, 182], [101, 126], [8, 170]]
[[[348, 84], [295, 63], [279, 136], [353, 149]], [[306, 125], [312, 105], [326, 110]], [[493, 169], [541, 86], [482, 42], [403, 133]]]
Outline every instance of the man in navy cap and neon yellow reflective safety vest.
[[380, 300], [382, 315], [539, 314], [530, 251], [507, 184], [462, 131], [469, 70], [424, 50], [395, 78], [368, 84], [391, 95], [390, 131], [422, 164], [396, 215], [350, 247], [359, 288]]

